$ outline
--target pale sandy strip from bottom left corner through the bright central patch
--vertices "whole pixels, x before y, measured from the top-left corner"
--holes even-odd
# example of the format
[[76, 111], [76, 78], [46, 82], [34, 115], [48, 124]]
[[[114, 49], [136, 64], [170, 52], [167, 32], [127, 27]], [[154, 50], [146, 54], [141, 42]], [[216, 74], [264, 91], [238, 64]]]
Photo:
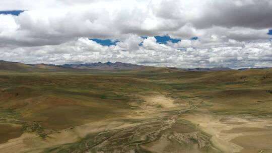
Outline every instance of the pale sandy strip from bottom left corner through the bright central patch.
[[129, 113], [126, 116], [119, 118], [105, 119], [48, 132], [47, 136], [49, 137], [46, 139], [42, 139], [35, 133], [24, 133], [18, 138], [10, 139], [8, 142], [0, 144], [0, 152], [9, 153], [14, 152], [15, 150], [18, 152], [40, 152], [44, 148], [54, 145], [76, 142], [90, 133], [132, 127], [138, 125], [138, 123], [127, 121], [127, 119], [146, 119], [163, 116], [163, 111], [176, 110], [178, 109], [176, 106], [180, 106], [180, 104], [175, 104], [173, 99], [157, 93], [156, 95], [143, 96], [141, 98], [145, 100], [145, 103], [143, 103], [139, 109], [134, 110], [134, 113]]

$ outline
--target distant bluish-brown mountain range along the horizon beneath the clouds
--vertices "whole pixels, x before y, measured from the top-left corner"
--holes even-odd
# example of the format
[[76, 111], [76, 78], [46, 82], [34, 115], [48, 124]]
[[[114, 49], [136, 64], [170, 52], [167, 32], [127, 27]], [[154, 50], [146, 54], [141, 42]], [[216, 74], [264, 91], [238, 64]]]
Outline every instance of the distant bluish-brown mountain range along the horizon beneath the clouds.
[[[97, 69], [97, 70], [152, 70], [158, 69], [159, 67], [154, 66], [145, 66], [137, 65], [131, 63], [115, 62], [110, 61], [94, 62], [94, 63], [85, 63], [85, 64], [24, 64], [20, 62], [11, 62], [0, 60], [0, 69], [1, 70], [17, 70], [17, 71], [35, 71], [35, 70], [47, 70], [47, 71], [61, 71], [61, 70], [83, 70], [83, 69]], [[233, 70], [229, 67], [212, 67], [212, 68], [177, 68], [177, 67], [161, 67], [165, 68], [166, 71], [171, 70], [185, 70], [185, 71], [227, 71]], [[238, 70], [247, 70], [247, 69], [265, 69], [269, 67], [260, 67], [260, 68], [240, 68]], [[168, 69], [168, 70], [167, 70]]]

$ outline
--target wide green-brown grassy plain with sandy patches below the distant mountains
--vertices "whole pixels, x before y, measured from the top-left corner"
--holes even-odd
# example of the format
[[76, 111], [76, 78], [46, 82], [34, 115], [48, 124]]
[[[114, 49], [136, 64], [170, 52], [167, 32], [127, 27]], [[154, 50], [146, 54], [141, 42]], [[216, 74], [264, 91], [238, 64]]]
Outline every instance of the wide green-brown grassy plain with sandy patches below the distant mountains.
[[271, 152], [271, 77], [1, 70], [0, 152]]

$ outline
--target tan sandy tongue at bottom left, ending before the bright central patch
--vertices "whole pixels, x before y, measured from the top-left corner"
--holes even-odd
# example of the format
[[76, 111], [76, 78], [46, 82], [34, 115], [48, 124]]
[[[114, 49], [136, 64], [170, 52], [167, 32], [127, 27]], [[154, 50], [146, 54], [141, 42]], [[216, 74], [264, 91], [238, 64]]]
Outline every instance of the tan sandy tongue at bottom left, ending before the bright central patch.
[[47, 135], [48, 138], [46, 139], [42, 139], [35, 133], [24, 133], [18, 138], [10, 139], [8, 142], [0, 144], [0, 152], [40, 152], [45, 148], [54, 145], [76, 142], [90, 133], [121, 129], [135, 125], [137, 125], [137, 123], [124, 122], [120, 119], [111, 119], [57, 130], [49, 133]]

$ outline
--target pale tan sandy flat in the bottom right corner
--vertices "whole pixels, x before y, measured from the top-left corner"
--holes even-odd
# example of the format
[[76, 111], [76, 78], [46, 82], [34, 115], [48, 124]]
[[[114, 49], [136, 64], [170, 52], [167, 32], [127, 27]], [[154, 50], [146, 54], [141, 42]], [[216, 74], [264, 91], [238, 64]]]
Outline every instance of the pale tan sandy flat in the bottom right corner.
[[213, 144], [224, 152], [258, 152], [272, 146], [271, 119], [215, 115], [202, 108], [186, 113], [182, 118], [212, 135]]

